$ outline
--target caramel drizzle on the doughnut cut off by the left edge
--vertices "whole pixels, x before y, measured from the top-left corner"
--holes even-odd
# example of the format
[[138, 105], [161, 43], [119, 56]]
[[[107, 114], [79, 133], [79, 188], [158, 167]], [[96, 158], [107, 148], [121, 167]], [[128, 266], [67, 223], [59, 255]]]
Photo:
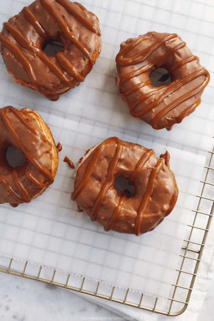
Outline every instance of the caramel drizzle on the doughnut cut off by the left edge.
[[[7, 116], [6, 116], [6, 112], [10, 110], [33, 134], [35, 134], [36, 136], [38, 136], [41, 140], [43, 141], [47, 141], [47, 139], [45, 138], [45, 136], [41, 136], [39, 134], [39, 132], [32, 126], [30, 126], [30, 124], [27, 122], [27, 120], [22, 116], [21, 112], [15, 108], [13, 108], [12, 106], [7, 106], [4, 107], [1, 111], [1, 117], [4, 121], [5, 126], [7, 127], [7, 129], [9, 130], [10, 134], [13, 136], [13, 139], [16, 141], [16, 143], [19, 145], [19, 147], [21, 148], [21, 152], [23, 154], [26, 155], [26, 157], [28, 158], [28, 160], [31, 162], [31, 164], [33, 164], [44, 176], [47, 177], [47, 182], [45, 183], [40, 183], [35, 177], [33, 177], [28, 171], [27, 171], [27, 165], [26, 163], [24, 163], [23, 165], [23, 169], [24, 172], [26, 174], [26, 176], [38, 187], [42, 188], [42, 187], [47, 187], [50, 184], [53, 183], [54, 178], [52, 176], [52, 174], [46, 169], [44, 168], [42, 165], [39, 164], [39, 162], [31, 155], [31, 153], [25, 148], [25, 146], [23, 145], [23, 143], [21, 142], [20, 138], [18, 137], [17, 133], [15, 132], [15, 130], [13, 129], [10, 121], [8, 120]], [[31, 201], [31, 197], [28, 193], [28, 191], [25, 189], [25, 187], [22, 185], [22, 183], [19, 180], [19, 173], [17, 171], [16, 168], [13, 169], [12, 171], [12, 175], [13, 175], [13, 179], [14, 182], [17, 186], [17, 188], [19, 189], [19, 191], [21, 192], [21, 194], [23, 195], [23, 197], [21, 197], [20, 195], [18, 195], [13, 189], [12, 187], [4, 180], [4, 178], [0, 175], [0, 181], [4, 184], [4, 186], [7, 188], [7, 190], [14, 196], [15, 199], [17, 199], [20, 203], [29, 203]], [[17, 203], [14, 203], [17, 204]], [[18, 205], [17, 205], [18, 206]], [[15, 206], [13, 206], [15, 207]]]

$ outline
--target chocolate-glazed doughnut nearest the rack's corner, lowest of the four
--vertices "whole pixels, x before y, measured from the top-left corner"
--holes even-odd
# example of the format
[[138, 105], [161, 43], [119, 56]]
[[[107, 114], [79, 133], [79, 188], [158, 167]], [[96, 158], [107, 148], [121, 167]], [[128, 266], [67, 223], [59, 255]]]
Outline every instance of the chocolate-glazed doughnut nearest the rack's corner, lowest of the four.
[[[174, 174], [165, 165], [169, 153], [161, 157], [141, 145], [107, 138], [80, 159], [71, 198], [79, 212], [84, 210], [105, 231], [151, 231], [172, 211], [178, 196]], [[134, 186], [134, 195], [114, 186], [121, 176]]]

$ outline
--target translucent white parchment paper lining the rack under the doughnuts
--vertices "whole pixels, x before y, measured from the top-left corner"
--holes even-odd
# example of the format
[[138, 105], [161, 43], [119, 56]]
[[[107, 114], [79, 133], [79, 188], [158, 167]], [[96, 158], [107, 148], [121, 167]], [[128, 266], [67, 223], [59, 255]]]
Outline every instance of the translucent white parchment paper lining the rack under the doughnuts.
[[[214, 6], [209, 1], [192, 0], [81, 3], [99, 18], [102, 51], [78, 88], [51, 102], [14, 83], [0, 62], [0, 107], [37, 110], [56, 143], [59, 140], [63, 145], [55, 182], [43, 195], [16, 209], [1, 205], [0, 253], [167, 297], [213, 134]], [[0, 22], [29, 4], [27, 0], [1, 0]], [[201, 105], [170, 132], [155, 131], [131, 117], [115, 85], [115, 56], [120, 43], [153, 30], [178, 33], [211, 76]], [[115, 135], [154, 148], [157, 156], [166, 147], [180, 191], [173, 213], [156, 230], [140, 238], [104, 232], [84, 213], [78, 213], [76, 203], [70, 199], [75, 171], [63, 163], [64, 156], [77, 165], [86, 150]]]

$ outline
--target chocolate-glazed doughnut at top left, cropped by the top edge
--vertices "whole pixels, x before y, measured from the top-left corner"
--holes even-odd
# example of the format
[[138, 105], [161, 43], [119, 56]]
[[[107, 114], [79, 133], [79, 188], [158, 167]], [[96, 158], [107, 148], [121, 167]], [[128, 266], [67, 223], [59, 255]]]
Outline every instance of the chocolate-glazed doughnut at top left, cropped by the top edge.
[[[4, 22], [1, 54], [15, 82], [56, 101], [83, 82], [101, 51], [98, 18], [68, 0], [36, 0]], [[48, 40], [63, 43], [62, 52], [48, 57]]]

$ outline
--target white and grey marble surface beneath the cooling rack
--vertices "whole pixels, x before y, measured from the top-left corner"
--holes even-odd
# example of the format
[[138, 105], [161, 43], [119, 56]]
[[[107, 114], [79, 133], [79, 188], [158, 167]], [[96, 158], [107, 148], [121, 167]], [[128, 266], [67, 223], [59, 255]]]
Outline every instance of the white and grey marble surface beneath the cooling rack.
[[[213, 321], [213, 299], [214, 282], [207, 293], [197, 321]], [[78, 321], [92, 317], [94, 319], [102, 317], [102, 320], [124, 319], [100, 305], [77, 296], [73, 291], [0, 273], [0, 320], [2, 321]]]

